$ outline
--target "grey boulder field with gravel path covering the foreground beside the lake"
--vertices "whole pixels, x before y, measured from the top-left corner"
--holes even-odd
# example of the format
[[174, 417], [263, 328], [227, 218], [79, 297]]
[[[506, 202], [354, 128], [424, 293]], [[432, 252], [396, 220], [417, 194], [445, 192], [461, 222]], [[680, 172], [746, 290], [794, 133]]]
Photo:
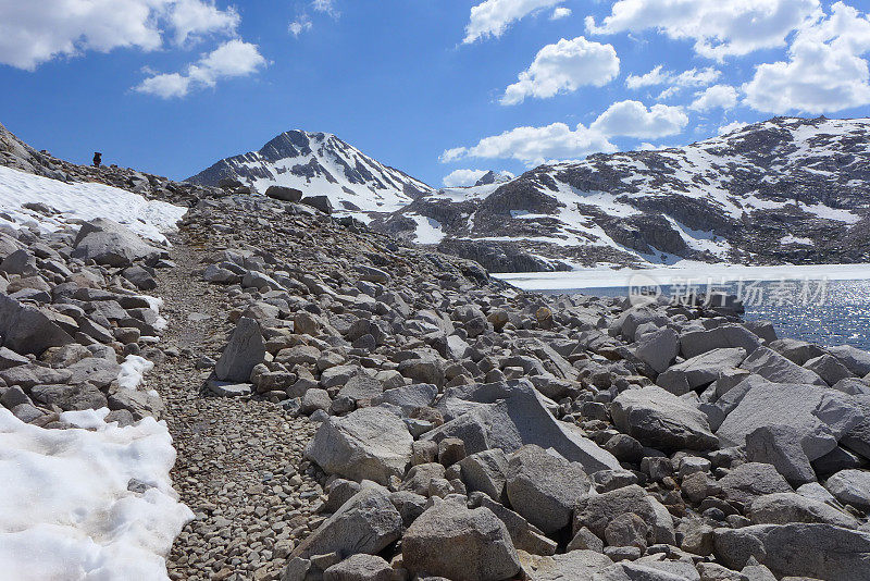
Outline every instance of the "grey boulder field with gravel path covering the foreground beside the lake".
[[[167, 421], [197, 516], [171, 578], [870, 579], [870, 354], [146, 181], [189, 207], [172, 250], [105, 220], [0, 234], [0, 403]], [[127, 355], [161, 397], [120, 388]]]

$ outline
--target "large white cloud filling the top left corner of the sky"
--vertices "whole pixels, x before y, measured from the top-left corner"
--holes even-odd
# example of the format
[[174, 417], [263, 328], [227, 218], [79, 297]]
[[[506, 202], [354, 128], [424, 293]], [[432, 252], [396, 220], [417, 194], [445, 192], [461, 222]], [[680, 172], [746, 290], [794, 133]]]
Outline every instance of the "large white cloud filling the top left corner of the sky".
[[184, 44], [233, 34], [239, 16], [211, 0], [0, 1], [0, 63], [27, 71], [58, 57], [119, 48], [157, 50], [164, 37]]

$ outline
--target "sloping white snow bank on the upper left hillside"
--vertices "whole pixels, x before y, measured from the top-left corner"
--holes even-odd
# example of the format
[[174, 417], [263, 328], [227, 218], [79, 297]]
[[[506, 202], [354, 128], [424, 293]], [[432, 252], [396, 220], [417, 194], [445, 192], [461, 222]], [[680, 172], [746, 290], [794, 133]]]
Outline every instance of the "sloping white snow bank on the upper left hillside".
[[[61, 214], [45, 215], [22, 208], [28, 202], [45, 203]], [[187, 208], [147, 200], [104, 184], [67, 184], [0, 165], [0, 224], [54, 231], [70, 219], [109, 218], [145, 238], [165, 244], [163, 232], [175, 230], [186, 212]]]

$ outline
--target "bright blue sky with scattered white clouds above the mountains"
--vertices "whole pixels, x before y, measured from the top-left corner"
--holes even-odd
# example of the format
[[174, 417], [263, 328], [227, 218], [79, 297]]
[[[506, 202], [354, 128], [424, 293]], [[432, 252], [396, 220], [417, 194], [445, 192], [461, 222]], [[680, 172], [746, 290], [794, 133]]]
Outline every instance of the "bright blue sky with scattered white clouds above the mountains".
[[865, 0], [0, 0], [0, 122], [183, 178], [291, 129], [432, 185], [870, 114]]

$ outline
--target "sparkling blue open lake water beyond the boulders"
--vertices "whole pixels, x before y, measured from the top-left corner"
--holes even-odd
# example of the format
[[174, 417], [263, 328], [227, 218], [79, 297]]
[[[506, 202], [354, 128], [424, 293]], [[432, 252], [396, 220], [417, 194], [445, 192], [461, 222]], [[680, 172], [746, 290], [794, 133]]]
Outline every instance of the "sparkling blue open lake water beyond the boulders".
[[[685, 292], [684, 287], [676, 285], [663, 285], [660, 288], [666, 296]], [[744, 318], [771, 321], [780, 337], [825, 346], [853, 345], [870, 350], [870, 280], [743, 281], [717, 284], [716, 288], [743, 297], [746, 306]], [[627, 296], [629, 287], [540, 292]]]

